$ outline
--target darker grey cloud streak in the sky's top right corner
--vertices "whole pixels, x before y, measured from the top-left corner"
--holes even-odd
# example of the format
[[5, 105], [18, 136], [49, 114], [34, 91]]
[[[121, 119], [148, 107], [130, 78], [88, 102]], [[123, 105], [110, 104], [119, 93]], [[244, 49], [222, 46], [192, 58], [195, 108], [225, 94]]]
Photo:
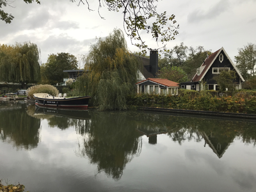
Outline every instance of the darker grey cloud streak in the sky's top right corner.
[[188, 15], [188, 22], [200, 22], [201, 20], [214, 19], [221, 15], [221, 13], [228, 10], [228, 0], [219, 1], [217, 4], [209, 8], [209, 10], [195, 10]]

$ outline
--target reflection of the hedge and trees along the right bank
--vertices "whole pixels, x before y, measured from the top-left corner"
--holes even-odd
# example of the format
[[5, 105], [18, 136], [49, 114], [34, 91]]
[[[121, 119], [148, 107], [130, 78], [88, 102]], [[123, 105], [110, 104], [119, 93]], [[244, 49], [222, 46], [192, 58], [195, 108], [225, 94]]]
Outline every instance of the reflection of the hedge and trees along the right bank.
[[[256, 122], [200, 118], [200, 116], [172, 116], [168, 114], [140, 113], [136, 116], [138, 124], [167, 129], [173, 141], [205, 140], [204, 135], [222, 143], [231, 143], [235, 137], [244, 143], [256, 144]], [[214, 135], [214, 136], [213, 136]], [[220, 142], [218, 142], [220, 143]], [[216, 145], [218, 145], [218, 143]], [[220, 144], [218, 145], [220, 147]]]

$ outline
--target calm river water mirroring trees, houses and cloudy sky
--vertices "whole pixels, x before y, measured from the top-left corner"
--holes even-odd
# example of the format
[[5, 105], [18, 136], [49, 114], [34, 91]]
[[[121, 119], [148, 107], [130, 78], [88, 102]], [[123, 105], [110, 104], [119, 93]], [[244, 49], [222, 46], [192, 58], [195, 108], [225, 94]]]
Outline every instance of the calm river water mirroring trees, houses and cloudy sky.
[[256, 122], [0, 102], [0, 179], [28, 191], [255, 191]]

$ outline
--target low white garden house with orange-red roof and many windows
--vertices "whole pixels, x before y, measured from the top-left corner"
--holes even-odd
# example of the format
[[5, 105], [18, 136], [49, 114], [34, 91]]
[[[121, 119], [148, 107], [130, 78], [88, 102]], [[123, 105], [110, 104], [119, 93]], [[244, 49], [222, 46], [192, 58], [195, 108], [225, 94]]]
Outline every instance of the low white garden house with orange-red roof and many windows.
[[148, 78], [146, 80], [136, 83], [137, 93], [149, 94], [178, 94], [179, 83], [170, 81], [168, 79]]

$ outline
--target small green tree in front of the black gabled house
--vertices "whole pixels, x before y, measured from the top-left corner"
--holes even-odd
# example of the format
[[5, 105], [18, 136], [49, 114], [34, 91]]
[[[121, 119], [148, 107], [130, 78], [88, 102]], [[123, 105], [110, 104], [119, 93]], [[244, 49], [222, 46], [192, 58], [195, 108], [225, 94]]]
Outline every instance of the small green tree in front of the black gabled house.
[[220, 86], [220, 91], [234, 92], [236, 90], [236, 71], [234, 70], [221, 70], [220, 74], [214, 77], [217, 84]]

